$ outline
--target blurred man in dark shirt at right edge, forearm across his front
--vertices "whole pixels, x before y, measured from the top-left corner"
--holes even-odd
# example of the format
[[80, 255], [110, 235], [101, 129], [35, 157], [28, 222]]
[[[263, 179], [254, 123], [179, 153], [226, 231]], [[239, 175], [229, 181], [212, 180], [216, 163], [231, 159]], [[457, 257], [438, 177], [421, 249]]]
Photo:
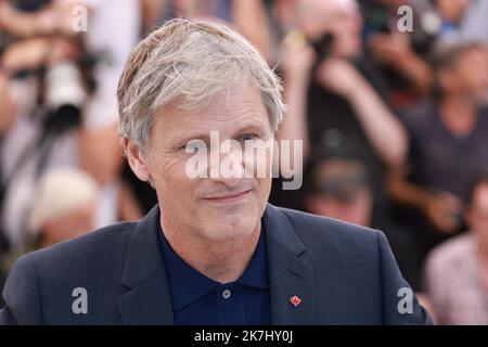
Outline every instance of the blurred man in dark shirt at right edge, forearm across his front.
[[421, 255], [464, 229], [473, 179], [488, 163], [487, 48], [453, 44], [437, 53], [436, 98], [404, 113], [408, 162], [391, 170], [389, 191]]

